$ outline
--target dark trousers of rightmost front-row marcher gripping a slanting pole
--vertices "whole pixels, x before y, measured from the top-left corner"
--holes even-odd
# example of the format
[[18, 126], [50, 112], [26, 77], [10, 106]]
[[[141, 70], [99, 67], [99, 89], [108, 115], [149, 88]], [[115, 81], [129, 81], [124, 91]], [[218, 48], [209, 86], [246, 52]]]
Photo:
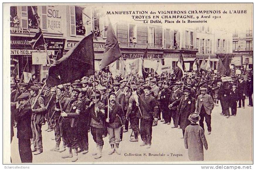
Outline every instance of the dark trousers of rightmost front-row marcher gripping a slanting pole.
[[153, 119], [140, 119], [140, 137], [146, 144], [151, 145]]

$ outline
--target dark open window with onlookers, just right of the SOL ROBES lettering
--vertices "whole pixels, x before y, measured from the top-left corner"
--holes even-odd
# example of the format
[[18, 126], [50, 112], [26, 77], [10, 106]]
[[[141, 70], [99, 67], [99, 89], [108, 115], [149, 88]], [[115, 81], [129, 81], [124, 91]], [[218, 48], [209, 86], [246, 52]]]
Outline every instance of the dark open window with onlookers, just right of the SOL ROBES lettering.
[[83, 21], [83, 9], [82, 7], [75, 6], [75, 20], [76, 20], [76, 35], [85, 34], [85, 26]]

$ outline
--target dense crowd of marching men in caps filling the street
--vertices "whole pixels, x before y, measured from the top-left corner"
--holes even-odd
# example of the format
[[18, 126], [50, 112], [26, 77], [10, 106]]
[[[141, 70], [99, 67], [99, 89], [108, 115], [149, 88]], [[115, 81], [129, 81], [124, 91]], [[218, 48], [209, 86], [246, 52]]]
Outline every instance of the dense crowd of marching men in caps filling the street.
[[170, 129], [181, 128], [184, 138], [185, 128], [191, 123], [189, 115], [194, 112], [200, 115], [203, 130], [205, 120], [210, 135], [214, 106], [220, 104], [220, 114], [226, 118], [236, 116], [237, 107], [245, 108], [245, 97], [252, 106], [252, 74], [236, 75], [231, 70], [232, 81], [223, 82], [225, 75], [213, 71], [195, 71], [179, 80], [167, 73], [145, 80], [137, 76], [122, 80], [101, 72], [95, 78], [84, 77], [51, 88], [36, 80], [30, 87], [26, 83], [18, 84], [18, 88], [17, 83], [11, 84], [11, 140], [14, 125], [21, 162], [32, 162], [32, 152], [43, 152], [42, 125], [47, 123], [47, 131], [55, 133], [56, 144], [51, 151], [65, 151], [62, 158], [75, 162], [78, 153], [88, 153], [88, 132], [96, 145], [95, 159], [101, 158], [107, 135], [111, 147], [108, 154], [121, 154], [120, 142], [128, 128], [133, 131], [130, 142], [138, 142], [140, 135], [140, 146], [146, 148], [151, 147], [152, 126], [160, 122], [173, 123]]

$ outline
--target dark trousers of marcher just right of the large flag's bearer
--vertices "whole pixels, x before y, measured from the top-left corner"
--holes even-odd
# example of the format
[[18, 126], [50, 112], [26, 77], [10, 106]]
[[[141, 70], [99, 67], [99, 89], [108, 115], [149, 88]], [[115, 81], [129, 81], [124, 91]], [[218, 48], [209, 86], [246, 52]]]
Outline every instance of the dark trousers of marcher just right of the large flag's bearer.
[[82, 150], [88, 150], [88, 128], [84, 124], [78, 125], [78, 146]]

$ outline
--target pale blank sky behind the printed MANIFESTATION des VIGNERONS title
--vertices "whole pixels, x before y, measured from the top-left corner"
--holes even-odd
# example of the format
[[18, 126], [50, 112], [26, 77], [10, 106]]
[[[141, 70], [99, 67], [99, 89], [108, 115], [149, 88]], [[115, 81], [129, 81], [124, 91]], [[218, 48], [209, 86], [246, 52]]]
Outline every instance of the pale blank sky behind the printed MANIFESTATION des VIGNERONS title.
[[[207, 20], [208, 23], [176, 23], [177, 19], [169, 19], [175, 21], [175, 23], [154, 23], [156, 25], [162, 25], [163, 27], [169, 28], [196, 28], [201, 26], [202, 24], [206, 26], [210, 26], [212, 29], [224, 29], [227, 32], [246, 32], [248, 29], [252, 29], [252, 4], [125, 4], [125, 5], [97, 5], [97, 7], [101, 8], [102, 11], [106, 14], [106, 11], [148, 11], [148, 14], [135, 14], [135, 15], [193, 15], [194, 17], [199, 16], [200, 18], [197, 20]], [[204, 11], [204, 10], [215, 10], [221, 11], [219, 14], [189, 14], [188, 11]], [[226, 10], [227, 14], [223, 14], [223, 11]], [[233, 12], [233, 10], [246, 10], [247, 13], [243, 14], [230, 14], [229, 11]], [[150, 11], [187, 11], [186, 14], [150, 14]], [[204, 19], [201, 16], [220, 16], [221, 18], [216, 19]], [[134, 21], [132, 19], [132, 14], [127, 15], [108, 15], [111, 23], [116, 23], [121, 20], [125, 21]], [[161, 19], [161, 18], [160, 18]], [[143, 19], [141, 19], [143, 20]], [[150, 20], [150, 19], [149, 19]], [[164, 22], [165, 19], [161, 19]], [[180, 19], [182, 20], [182, 19]], [[187, 19], [183, 19], [187, 20]], [[189, 20], [196, 20], [189, 19]], [[140, 23], [140, 22], [139, 22]], [[143, 23], [141, 21], [141, 23]]]

